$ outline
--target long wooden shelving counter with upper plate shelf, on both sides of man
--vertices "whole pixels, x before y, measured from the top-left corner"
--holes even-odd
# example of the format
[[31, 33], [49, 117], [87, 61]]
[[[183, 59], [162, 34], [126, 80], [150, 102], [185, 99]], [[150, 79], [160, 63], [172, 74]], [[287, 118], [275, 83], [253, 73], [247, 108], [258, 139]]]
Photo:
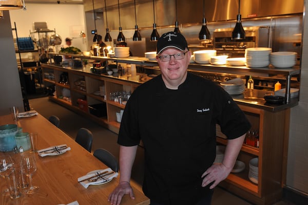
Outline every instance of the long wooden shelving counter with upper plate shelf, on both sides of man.
[[[82, 56], [79, 56], [83, 59]], [[85, 57], [86, 59], [102, 59], [100, 57]], [[145, 61], [144, 59], [115, 59], [112, 60], [117, 63], [134, 63], [140, 66], [152, 66], [153, 70], [157, 70], [155, 62]], [[121, 109], [125, 108], [125, 105], [119, 104], [111, 100], [110, 93], [119, 90], [126, 90], [133, 92], [141, 82], [132, 82], [123, 80], [120, 78], [112, 78], [105, 75], [92, 74], [82, 70], [66, 69], [59, 66], [43, 65], [43, 71], [49, 72], [53, 70], [55, 75], [55, 81], [50, 79], [44, 79], [46, 84], [55, 84], [57, 89], [62, 87], [68, 88], [71, 91], [72, 103], [64, 102], [57, 97], [50, 97], [51, 100], [56, 101], [74, 111], [89, 117], [92, 120], [97, 121], [100, 124], [105, 125], [111, 131], [118, 133], [120, 123], [117, 122], [115, 113], [118, 113]], [[204, 66], [204, 65], [189, 65], [189, 71], [197, 72], [213, 72], [213, 68], [216, 66]], [[70, 86], [58, 85], [59, 74], [63, 71], [68, 72], [70, 79]], [[290, 83], [290, 78], [300, 73], [299, 68], [295, 69], [272, 69], [272, 68], [260, 68], [260, 69], [247, 69], [236, 67], [219, 67], [215, 70], [217, 72], [253, 72], [253, 73], [265, 73], [265, 74], [283, 74], [286, 79], [286, 83]], [[86, 91], [80, 91], [74, 89], [73, 80], [83, 76], [86, 82]], [[78, 78], [77, 78], [78, 77]], [[94, 95], [94, 92], [99, 90], [100, 86], [104, 86], [106, 97]], [[58, 90], [57, 90], [58, 91]], [[107, 116], [96, 117], [84, 111], [78, 107], [75, 102], [76, 99], [84, 97], [88, 104], [93, 103], [106, 103]], [[290, 123], [290, 107], [284, 105], [281, 109], [262, 109], [262, 107], [256, 107], [245, 103], [238, 103], [240, 108], [246, 114], [248, 120], [252, 124], [252, 130], [259, 131], [259, 147], [249, 146], [243, 144], [241, 152], [238, 156], [238, 160], [245, 163], [245, 170], [240, 173], [231, 173], [224, 181], [220, 183], [221, 187], [224, 187], [230, 192], [233, 192], [254, 204], [272, 204], [275, 201], [282, 198], [282, 187], [285, 183], [285, 170], [287, 159], [287, 143], [288, 143], [288, 127]], [[292, 104], [295, 105], [295, 104]], [[274, 111], [275, 110], [275, 111]], [[227, 140], [225, 136], [217, 128], [217, 143], [226, 145]], [[258, 184], [248, 179], [249, 161], [252, 158], [258, 157]]]

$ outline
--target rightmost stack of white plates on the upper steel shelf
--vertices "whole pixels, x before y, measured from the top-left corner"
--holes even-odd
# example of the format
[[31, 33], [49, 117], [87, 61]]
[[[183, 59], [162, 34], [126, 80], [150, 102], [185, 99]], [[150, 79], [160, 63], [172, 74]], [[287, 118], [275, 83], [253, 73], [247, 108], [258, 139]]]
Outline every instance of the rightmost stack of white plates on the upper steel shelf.
[[276, 68], [290, 68], [296, 65], [296, 52], [272, 52], [271, 64]]

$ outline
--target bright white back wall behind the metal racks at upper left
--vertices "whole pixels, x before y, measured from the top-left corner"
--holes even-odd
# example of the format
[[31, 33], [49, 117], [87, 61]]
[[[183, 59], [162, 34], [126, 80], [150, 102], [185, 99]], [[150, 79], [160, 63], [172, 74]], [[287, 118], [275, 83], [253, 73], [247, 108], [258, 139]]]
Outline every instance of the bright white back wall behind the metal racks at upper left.
[[[79, 36], [81, 31], [86, 33], [85, 12], [83, 5], [74, 4], [31, 4], [26, 2], [27, 10], [10, 10], [11, 26], [16, 23], [18, 37], [30, 36], [33, 22], [47, 22], [48, 29], [54, 30], [62, 38], [73, 39], [72, 46], [81, 50], [89, 50], [86, 39]], [[54, 34], [53, 32], [49, 35]], [[15, 35], [13, 35], [15, 38]], [[35, 35], [38, 38], [37, 34]]]

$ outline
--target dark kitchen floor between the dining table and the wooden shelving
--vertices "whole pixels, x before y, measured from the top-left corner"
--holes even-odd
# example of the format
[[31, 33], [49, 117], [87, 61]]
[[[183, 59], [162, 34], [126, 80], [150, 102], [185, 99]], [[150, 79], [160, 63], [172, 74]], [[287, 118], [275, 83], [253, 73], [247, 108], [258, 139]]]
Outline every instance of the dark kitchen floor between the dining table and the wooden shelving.
[[[92, 152], [97, 148], [105, 148], [111, 152], [115, 157], [119, 158], [119, 145], [117, 144], [117, 134], [109, 131], [101, 125], [80, 116], [65, 107], [62, 107], [52, 101], [48, 100], [48, 97], [30, 99], [30, 108], [38, 111], [45, 118], [49, 118], [51, 115], [55, 115], [60, 118], [60, 129], [67, 135], [75, 138], [78, 129], [85, 127], [89, 129], [93, 134]], [[40, 147], [39, 147], [40, 148]], [[138, 184], [143, 180], [143, 149], [138, 148], [135, 163], [132, 169], [132, 180]], [[224, 189], [216, 188], [212, 200], [213, 205], [221, 204], [237, 204], [248, 205], [252, 204], [239, 198]], [[275, 205], [293, 205], [294, 203], [285, 199], [275, 203]]]

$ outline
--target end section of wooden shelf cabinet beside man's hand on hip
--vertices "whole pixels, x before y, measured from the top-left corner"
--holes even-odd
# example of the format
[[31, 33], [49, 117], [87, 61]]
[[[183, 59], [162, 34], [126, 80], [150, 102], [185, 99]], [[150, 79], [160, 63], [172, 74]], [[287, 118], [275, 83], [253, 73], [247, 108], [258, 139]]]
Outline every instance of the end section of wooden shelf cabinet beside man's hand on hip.
[[[222, 187], [254, 204], [272, 204], [282, 198], [286, 169], [290, 109], [277, 112], [239, 105], [259, 131], [259, 148], [243, 144], [238, 160], [245, 163], [244, 171], [230, 173], [220, 183]], [[218, 144], [226, 144], [218, 132]], [[249, 161], [258, 157], [258, 184], [248, 179]]]

